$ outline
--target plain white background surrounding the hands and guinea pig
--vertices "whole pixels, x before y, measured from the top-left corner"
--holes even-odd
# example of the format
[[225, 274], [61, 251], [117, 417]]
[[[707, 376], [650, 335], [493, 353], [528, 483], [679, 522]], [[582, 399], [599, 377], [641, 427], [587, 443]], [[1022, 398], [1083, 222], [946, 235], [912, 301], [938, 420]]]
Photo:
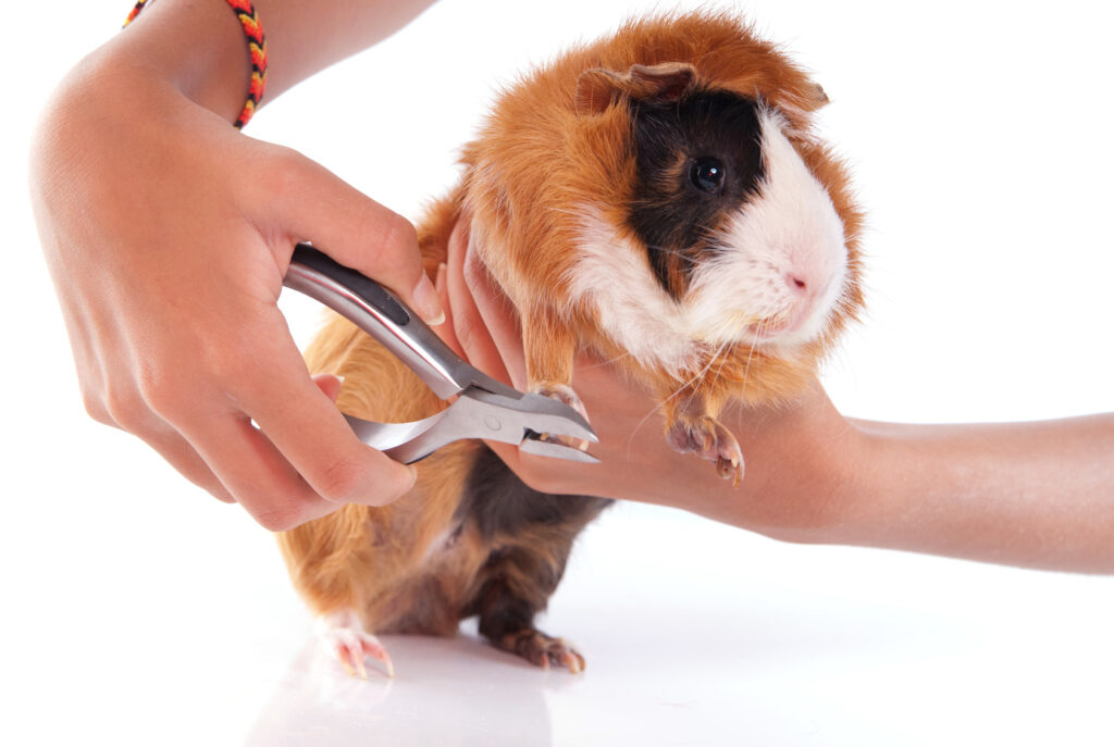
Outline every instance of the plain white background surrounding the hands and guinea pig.
[[[27, 142], [49, 88], [125, 6], [19, 3], [0, 46], [0, 741], [1114, 739], [1108, 578], [779, 544], [642, 505], [586, 533], [544, 620], [587, 653], [582, 677], [519, 665], [467, 627], [388, 638], [393, 682], [338, 676], [272, 538], [79, 401], [27, 205]], [[1114, 410], [1114, 6], [741, 7], [829, 92], [823, 132], [870, 215], [868, 318], [824, 376], [840, 409], [921, 422]], [[444, 0], [274, 101], [248, 134], [417, 216], [452, 183], [498, 82], [651, 8]], [[316, 309], [284, 306], [306, 340]]]

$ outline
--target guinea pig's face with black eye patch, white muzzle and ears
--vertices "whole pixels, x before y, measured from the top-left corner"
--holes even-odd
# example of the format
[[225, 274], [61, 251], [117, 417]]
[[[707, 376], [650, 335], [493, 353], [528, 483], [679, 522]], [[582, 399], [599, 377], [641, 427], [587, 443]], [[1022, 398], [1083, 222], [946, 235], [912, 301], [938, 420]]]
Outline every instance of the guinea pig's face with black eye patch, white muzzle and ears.
[[625, 120], [626, 196], [586, 213], [575, 275], [635, 357], [672, 370], [739, 346], [794, 357], [854, 314], [858, 214], [842, 169], [798, 130], [800, 108], [666, 62], [585, 71], [576, 109]]

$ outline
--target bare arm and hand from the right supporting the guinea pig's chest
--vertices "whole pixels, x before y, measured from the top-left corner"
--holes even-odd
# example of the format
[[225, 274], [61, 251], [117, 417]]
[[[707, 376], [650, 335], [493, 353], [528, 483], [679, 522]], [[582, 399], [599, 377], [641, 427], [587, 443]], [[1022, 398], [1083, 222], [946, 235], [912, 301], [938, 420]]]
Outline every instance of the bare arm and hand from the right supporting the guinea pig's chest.
[[[458, 230], [439, 281], [450, 343], [521, 386], [514, 316]], [[577, 361], [595, 465], [489, 444], [528, 484], [681, 508], [769, 537], [1114, 573], [1114, 414], [1009, 424], [907, 425], [841, 415], [819, 382], [791, 406], [721, 420], [739, 438], [737, 486], [662, 439], [656, 401], [614, 366]]]

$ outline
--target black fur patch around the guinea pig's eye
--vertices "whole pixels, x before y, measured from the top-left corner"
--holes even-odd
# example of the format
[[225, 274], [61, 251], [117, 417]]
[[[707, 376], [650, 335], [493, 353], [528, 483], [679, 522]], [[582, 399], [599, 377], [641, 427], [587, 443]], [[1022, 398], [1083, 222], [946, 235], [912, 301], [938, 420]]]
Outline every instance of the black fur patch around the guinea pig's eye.
[[[636, 180], [628, 220], [646, 245], [662, 287], [680, 297], [710, 230], [759, 193], [764, 175], [758, 104], [697, 91], [671, 104], [632, 101]], [[722, 189], [693, 177], [709, 159], [724, 167]]]

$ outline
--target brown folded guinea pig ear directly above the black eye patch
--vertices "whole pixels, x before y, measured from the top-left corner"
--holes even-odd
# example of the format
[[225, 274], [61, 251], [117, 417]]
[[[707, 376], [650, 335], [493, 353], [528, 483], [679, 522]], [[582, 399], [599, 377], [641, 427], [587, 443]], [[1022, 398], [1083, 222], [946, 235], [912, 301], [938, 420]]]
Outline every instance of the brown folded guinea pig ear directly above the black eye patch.
[[592, 68], [580, 73], [576, 83], [576, 112], [603, 114], [626, 96], [638, 101], [676, 101], [696, 80], [696, 70], [685, 62], [632, 65], [626, 72]]

